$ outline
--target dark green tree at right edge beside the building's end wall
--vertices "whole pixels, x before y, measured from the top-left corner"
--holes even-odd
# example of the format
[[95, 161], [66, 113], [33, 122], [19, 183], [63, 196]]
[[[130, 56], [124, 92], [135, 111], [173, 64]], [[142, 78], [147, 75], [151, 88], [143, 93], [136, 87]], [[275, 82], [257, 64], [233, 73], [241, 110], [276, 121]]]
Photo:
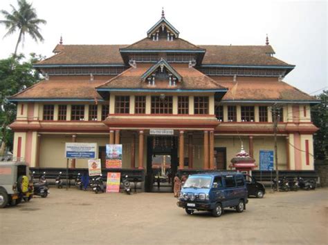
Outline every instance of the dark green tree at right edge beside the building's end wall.
[[314, 158], [325, 160], [328, 159], [328, 90], [324, 90], [316, 98], [321, 103], [311, 109], [313, 124], [319, 128], [313, 137]]

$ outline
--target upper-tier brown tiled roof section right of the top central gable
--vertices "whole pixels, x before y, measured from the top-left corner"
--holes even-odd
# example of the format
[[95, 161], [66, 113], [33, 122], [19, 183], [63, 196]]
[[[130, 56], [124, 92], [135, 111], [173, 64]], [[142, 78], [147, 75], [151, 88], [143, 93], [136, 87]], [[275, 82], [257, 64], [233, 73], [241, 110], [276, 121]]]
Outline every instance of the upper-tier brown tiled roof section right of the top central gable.
[[291, 66], [284, 61], [271, 57], [268, 53], [274, 53], [268, 46], [217, 46], [201, 45], [206, 49], [203, 65], [239, 65], [239, 66]]

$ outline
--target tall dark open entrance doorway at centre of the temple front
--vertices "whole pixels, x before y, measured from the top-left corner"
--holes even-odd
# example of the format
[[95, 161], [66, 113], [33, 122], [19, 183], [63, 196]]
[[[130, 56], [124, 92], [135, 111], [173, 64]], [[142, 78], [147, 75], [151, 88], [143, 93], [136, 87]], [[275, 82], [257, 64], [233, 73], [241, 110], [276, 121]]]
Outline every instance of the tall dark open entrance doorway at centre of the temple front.
[[178, 170], [177, 141], [176, 136], [147, 137], [146, 192], [172, 192]]

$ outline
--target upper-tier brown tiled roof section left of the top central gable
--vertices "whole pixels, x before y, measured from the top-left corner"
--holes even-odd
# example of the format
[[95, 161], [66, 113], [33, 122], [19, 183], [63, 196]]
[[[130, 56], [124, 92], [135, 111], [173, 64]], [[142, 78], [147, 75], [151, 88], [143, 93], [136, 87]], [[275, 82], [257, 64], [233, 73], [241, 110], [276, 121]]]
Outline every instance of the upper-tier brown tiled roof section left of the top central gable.
[[110, 64], [122, 63], [120, 48], [126, 45], [57, 45], [53, 55], [36, 63], [47, 64]]

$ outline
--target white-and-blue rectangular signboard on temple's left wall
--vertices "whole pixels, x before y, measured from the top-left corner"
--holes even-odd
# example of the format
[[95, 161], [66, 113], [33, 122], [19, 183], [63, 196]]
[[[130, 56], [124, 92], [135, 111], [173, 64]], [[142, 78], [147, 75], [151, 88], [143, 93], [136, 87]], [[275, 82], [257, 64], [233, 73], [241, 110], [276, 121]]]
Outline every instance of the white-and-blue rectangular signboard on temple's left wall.
[[97, 158], [97, 143], [65, 143], [66, 158]]

